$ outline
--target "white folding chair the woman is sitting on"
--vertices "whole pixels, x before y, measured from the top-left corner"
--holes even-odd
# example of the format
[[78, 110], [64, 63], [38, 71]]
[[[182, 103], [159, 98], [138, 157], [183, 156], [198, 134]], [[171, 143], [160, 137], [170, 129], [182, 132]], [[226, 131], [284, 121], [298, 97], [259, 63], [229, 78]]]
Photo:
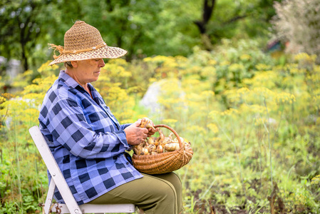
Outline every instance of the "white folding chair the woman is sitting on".
[[[51, 212], [56, 213], [134, 213], [135, 205], [133, 204], [83, 204], [78, 205], [76, 200], [73, 198], [70, 188], [68, 187], [66, 180], [63, 178], [60, 168], [56, 160], [43, 138], [43, 135], [38, 126], [29, 128], [29, 133], [33, 138], [36, 147], [38, 148], [41, 157], [46, 164], [46, 167], [51, 174], [51, 182], [48, 188], [46, 196], [46, 203], [44, 203], [44, 213], [48, 214]], [[58, 188], [61, 196], [66, 204], [52, 203], [54, 189]]]

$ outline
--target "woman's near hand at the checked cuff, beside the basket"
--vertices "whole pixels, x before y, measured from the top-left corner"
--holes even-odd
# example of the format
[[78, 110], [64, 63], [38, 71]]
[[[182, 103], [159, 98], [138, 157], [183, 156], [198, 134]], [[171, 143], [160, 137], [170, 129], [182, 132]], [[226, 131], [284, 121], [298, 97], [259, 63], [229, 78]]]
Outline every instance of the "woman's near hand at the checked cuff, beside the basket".
[[135, 123], [131, 124], [130, 126], [124, 129], [128, 144], [133, 146], [139, 145], [140, 143], [145, 141], [145, 139], [151, 132], [147, 128], [140, 128], [140, 123], [141, 120], [139, 119], [138, 121], [135, 121]]

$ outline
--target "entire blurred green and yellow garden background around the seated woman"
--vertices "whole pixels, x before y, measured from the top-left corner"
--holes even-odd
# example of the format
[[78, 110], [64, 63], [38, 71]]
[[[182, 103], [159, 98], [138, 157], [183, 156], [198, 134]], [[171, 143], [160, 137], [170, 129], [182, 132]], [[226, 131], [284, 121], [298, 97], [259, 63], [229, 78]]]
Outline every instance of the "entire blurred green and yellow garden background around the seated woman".
[[28, 129], [63, 69], [48, 66], [48, 43], [63, 46], [77, 20], [128, 50], [93, 83], [120, 123], [149, 116], [192, 142], [177, 170], [184, 213], [319, 213], [319, 11], [319, 0], [0, 1], [0, 213], [41, 213], [48, 179]]

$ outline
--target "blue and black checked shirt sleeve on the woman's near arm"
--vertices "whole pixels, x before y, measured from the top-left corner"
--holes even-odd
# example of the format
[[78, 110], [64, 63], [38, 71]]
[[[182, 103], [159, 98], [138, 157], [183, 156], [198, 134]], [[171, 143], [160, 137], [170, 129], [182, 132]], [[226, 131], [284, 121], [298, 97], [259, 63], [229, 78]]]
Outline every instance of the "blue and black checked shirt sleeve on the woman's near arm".
[[49, 113], [48, 130], [74, 156], [110, 158], [129, 149], [125, 131], [96, 133], [76, 101], [60, 99]]

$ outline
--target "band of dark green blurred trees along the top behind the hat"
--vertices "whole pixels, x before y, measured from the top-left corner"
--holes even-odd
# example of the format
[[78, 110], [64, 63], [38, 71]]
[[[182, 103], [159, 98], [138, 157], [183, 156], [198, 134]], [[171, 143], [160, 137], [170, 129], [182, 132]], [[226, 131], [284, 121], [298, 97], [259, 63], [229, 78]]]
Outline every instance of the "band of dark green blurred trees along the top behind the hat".
[[[0, 2], [0, 56], [21, 61], [24, 71], [52, 59], [48, 43], [63, 46], [77, 20], [100, 31], [126, 59], [188, 56], [194, 46], [212, 50], [225, 38], [270, 39], [272, 0], [14, 0]], [[1, 69], [1, 74], [4, 69]]]

